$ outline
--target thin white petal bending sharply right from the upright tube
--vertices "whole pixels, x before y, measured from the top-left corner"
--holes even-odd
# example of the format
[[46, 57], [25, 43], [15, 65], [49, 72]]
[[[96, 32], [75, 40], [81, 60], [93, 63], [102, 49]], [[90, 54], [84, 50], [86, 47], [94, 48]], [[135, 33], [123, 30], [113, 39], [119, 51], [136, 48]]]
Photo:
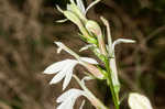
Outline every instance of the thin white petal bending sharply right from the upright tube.
[[120, 43], [135, 43], [135, 41], [134, 40], [129, 40], [129, 39], [118, 39], [112, 44], [112, 51], [114, 50], [114, 46], [117, 44], [120, 44]]

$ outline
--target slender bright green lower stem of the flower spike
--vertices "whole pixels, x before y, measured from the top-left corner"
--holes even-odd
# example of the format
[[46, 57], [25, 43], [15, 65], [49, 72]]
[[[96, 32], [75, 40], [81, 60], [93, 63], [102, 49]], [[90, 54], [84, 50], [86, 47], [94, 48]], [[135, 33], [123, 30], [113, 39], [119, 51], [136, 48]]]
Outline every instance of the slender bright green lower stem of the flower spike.
[[119, 101], [119, 94], [117, 94], [114, 91], [114, 86], [113, 86], [112, 76], [111, 76], [111, 69], [109, 67], [109, 61], [108, 59], [106, 61], [106, 68], [107, 68], [107, 72], [108, 72], [108, 84], [110, 86], [110, 90], [111, 90], [111, 94], [112, 94], [112, 99], [113, 99], [116, 109], [120, 109], [120, 107], [119, 107], [119, 102], [120, 102]]

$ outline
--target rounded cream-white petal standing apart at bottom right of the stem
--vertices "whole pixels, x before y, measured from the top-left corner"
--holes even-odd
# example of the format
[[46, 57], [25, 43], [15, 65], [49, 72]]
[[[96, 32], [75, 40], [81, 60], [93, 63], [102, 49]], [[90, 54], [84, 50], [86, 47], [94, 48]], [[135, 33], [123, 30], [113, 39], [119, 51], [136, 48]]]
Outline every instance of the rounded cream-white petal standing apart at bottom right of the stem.
[[129, 106], [131, 109], [153, 109], [150, 100], [138, 92], [131, 92], [129, 95]]

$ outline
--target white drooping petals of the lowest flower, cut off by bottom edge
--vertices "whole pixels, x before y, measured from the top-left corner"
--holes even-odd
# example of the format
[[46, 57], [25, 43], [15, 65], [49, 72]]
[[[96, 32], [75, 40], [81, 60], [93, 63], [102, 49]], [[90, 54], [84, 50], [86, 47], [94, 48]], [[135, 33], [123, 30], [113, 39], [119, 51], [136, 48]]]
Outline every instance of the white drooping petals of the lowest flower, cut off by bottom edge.
[[[78, 97], [86, 96], [86, 92], [80, 89], [69, 89], [57, 98], [57, 102], [61, 103], [57, 109], [74, 109], [75, 101]], [[84, 103], [84, 102], [82, 102]], [[80, 107], [81, 109], [82, 107]]]

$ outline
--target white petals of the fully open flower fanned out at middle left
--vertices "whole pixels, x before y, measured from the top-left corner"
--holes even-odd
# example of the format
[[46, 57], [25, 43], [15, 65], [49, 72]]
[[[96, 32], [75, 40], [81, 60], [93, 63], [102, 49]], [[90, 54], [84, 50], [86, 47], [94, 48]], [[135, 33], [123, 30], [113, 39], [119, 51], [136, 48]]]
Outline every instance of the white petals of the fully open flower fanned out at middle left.
[[89, 58], [89, 57], [80, 57], [80, 61], [65, 59], [62, 62], [54, 63], [44, 70], [44, 74], [56, 74], [50, 84], [57, 84], [63, 78], [65, 78], [64, 84], [63, 84], [63, 90], [64, 90], [68, 86], [73, 76], [74, 67], [77, 64], [82, 65], [84, 62], [87, 62], [90, 64], [98, 64], [97, 61]]

